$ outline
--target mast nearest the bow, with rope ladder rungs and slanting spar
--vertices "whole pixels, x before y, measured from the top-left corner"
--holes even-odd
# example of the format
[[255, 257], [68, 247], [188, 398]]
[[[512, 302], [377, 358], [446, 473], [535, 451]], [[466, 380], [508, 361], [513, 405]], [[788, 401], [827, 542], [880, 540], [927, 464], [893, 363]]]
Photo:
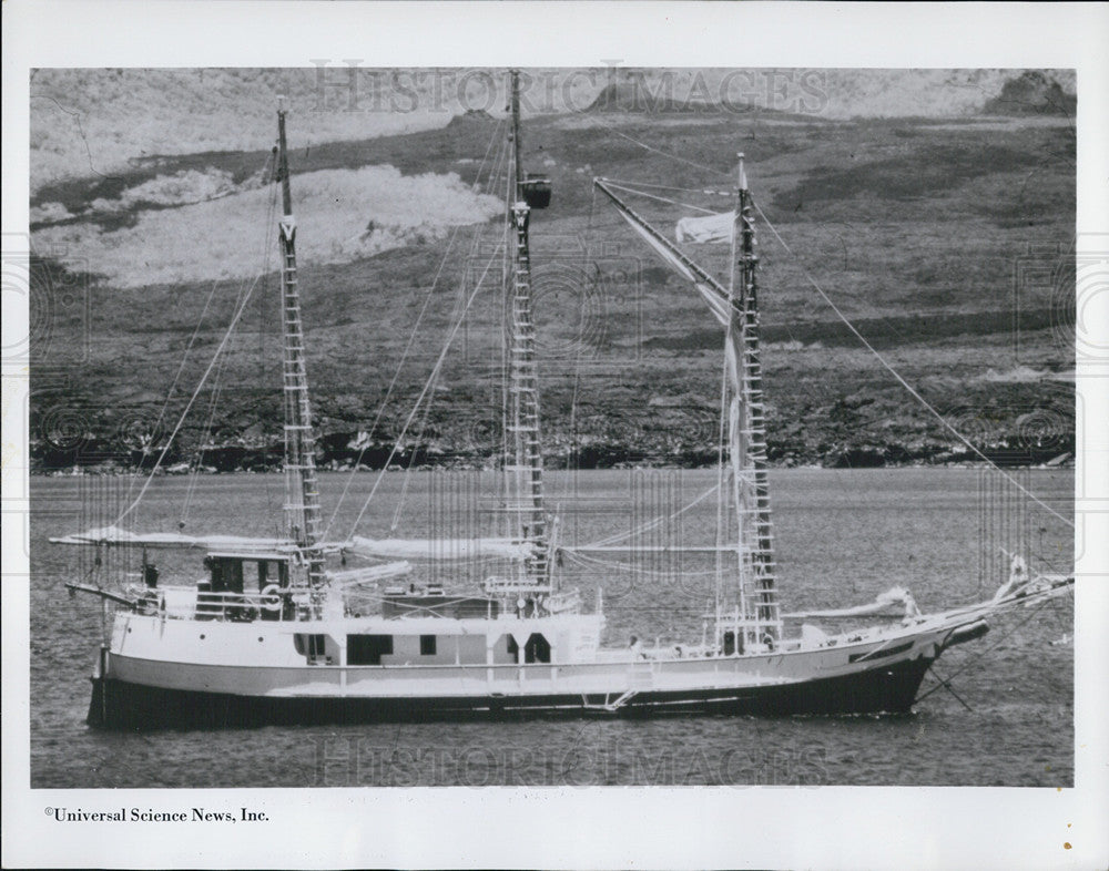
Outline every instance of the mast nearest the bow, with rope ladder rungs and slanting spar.
[[728, 366], [732, 386], [729, 438], [740, 544], [740, 590], [749, 642], [774, 642], [781, 635], [771, 533], [770, 484], [766, 477], [766, 413], [759, 353], [759, 297], [755, 280], [754, 216], [751, 192], [739, 155], [735, 269], [729, 288]]

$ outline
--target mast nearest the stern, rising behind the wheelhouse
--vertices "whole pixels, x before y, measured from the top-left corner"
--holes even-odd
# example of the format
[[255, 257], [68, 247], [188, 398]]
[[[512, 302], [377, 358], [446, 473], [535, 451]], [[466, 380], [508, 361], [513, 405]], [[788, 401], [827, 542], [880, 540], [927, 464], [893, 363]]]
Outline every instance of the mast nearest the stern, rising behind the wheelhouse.
[[324, 580], [319, 551], [319, 489], [316, 482], [315, 436], [308, 376], [304, 361], [304, 327], [296, 283], [296, 219], [289, 191], [288, 152], [285, 142], [285, 101], [277, 107], [277, 177], [282, 189], [279, 242], [282, 250], [282, 377], [285, 398], [285, 525], [286, 532], [304, 551], [308, 583]]

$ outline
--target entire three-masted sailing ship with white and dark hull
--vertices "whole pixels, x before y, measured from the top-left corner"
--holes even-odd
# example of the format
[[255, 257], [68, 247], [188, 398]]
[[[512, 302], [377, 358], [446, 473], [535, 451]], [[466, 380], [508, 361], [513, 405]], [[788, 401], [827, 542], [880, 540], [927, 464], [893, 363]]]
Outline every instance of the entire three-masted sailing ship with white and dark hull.
[[[540, 393], [529, 245], [533, 211], [551, 198], [548, 178], [523, 172], [517, 76], [510, 74], [510, 193], [506, 234], [506, 458], [502, 505], [511, 534], [456, 542], [325, 541], [315, 433], [297, 283], [296, 236], [286, 145], [277, 112], [283, 212], [281, 320], [285, 438], [285, 534], [136, 533], [111, 524], [52, 541], [142, 552], [138, 583], [119, 590], [71, 583], [114, 608], [92, 676], [89, 721], [109, 728], [362, 723], [521, 715], [842, 715], [904, 713], [947, 648], [980, 637], [1005, 608], [1068, 592], [1074, 578], [1035, 575], [1015, 563], [1009, 582], [974, 605], [923, 614], [896, 593], [901, 613], [877, 625], [824, 632], [783, 614], [775, 573], [760, 362], [755, 221], [742, 155], [734, 209], [713, 227], [731, 243], [728, 286], [651, 227], [613, 186], [596, 180], [637, 233], [692, 284], [724, 328], [726, 450], [719, 498], [735, 519], [724, 550], [734, 595], [719, 593], [711, 629], [681, 646], [603, 644], [602, 600], [587, 608], [563, 588], [562, 545], [545, 499]], [[411, 562], [434, 546], [452, 555], [494, 555], [511, 571], [480, 590], [407, 582]], [[449, 545], [449, 546], [448, 546]], [[199, 581], [169, 583], [147, 550], [204, 553]], [[568, 549], [569, 546], [567, 546]], [[718, 551], [721, 549], [716, 549]], [[358, 568], [336, 567], [364, 557]], [[394, 560], [394, 562], [386, 562]], [[98, 565], [100, 559], [98, 555]], [[388, 584], [400, 585], [388, 586]], [[385, 586], [381, 586], [385, 585]], [[363, 613], [354, 587], [379, 588]], [[862, 607], [824, 616], [864, 615]], [[812, 618], [815, 615], [801, 615]]]

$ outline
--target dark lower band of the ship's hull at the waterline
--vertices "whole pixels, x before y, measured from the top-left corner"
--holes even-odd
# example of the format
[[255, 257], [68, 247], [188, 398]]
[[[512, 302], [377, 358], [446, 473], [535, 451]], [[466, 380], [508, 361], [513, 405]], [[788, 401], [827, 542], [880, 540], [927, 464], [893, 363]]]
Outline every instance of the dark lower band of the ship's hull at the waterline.
[[235, 696], [93, 678], [89, 723], [113, 729], [225, 728], [527, 717], [905, 714], [930, 659], [795, 684], [615, 695], [336, 698]]

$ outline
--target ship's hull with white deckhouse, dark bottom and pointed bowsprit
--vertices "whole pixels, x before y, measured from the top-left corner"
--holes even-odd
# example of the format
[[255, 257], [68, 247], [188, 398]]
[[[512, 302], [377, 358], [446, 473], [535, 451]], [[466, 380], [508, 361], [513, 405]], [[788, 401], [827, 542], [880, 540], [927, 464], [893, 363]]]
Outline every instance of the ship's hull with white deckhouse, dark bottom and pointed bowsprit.
[[149, 613], [116, 618], [90, 718], [125, 728], [529, 713], [898, 713], [945, 648], [986, 633], [984, 617], [1069, 586], [1069, 578], [1040, 578], [976, 606], [730, 654], [603, 648], [599, 615], [197, 621], [151, 603]]

